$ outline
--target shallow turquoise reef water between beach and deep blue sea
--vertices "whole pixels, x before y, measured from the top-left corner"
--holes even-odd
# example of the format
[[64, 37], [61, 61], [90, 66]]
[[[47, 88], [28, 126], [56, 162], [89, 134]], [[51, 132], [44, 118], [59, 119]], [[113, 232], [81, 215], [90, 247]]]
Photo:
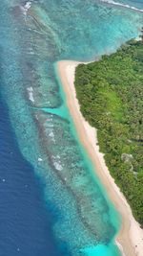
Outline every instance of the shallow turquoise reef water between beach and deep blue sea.
[[42, 178], [45, 202], [55, 205], [59, 250], [119, 256], [120, 216], [78, 140], [55, 66], [115, 51], [139, 35], [143, 13], [95, 0], [37, 0], [27, 11], [29, 3], [0, 3], [1, 90], [19, 148]]

